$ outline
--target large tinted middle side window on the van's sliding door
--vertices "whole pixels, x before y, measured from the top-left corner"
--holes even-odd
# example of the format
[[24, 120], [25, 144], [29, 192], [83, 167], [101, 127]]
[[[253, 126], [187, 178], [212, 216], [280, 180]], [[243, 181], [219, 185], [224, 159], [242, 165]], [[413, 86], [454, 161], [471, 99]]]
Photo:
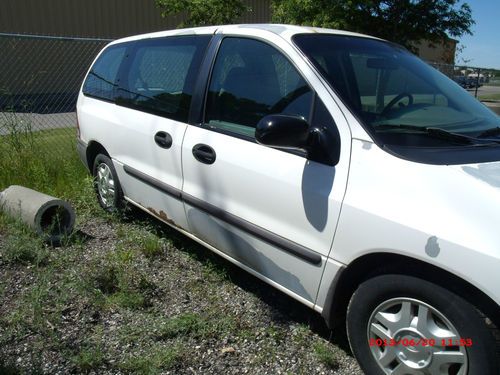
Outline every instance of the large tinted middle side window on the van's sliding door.
[[193, 87], [210, 36], [140, 41], [120, 83], [118, 104], [187, 122]]

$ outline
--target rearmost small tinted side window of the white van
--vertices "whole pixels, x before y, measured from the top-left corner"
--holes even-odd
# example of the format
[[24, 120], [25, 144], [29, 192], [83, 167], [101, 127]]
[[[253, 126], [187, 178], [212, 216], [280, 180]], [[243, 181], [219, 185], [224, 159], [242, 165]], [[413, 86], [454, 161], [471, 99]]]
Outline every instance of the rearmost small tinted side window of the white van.
[[106, 48], [96, 60], [83, 85], [83, 93], [99, 99], [114, 100], [118, 69], [125, 56], [126, 45]]

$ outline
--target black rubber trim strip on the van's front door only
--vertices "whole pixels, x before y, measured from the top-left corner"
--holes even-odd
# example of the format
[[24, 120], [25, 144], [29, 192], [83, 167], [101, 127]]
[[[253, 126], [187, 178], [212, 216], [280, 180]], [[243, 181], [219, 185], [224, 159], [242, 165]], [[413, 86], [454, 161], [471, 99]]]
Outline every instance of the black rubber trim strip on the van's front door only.
[[321, 264], [321, 256], [316, 252], [301, 246], [295, 242], [287, 240], [277, 234], [269, 232], [268, 230], [261, 228], [255, 224], [252, 224], [244, 219], [241, 219], [227, 211], [221, 210], [219, 207], [213, 206], [201, 199], [195, 198], [189, 194], [182, 193], [182, 199], [187, 204], [196, 207], [217, 219], [225, 221], [232, 226], [241, 229], [254, 237], [260, 238], [267, 243], [281, 248], [282, 250], [295, 255], [312, 264]]

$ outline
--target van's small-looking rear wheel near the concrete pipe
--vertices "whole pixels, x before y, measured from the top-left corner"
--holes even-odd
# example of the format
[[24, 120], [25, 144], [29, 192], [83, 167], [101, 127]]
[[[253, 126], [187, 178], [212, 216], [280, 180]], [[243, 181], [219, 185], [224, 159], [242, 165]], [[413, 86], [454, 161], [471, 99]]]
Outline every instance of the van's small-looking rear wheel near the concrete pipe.
[[92, 176], [99, 205], [108, 212], [121, 211], [125, 206], [123, 192], [113, 162], [108, 156], [98, 154], [95, 157]]

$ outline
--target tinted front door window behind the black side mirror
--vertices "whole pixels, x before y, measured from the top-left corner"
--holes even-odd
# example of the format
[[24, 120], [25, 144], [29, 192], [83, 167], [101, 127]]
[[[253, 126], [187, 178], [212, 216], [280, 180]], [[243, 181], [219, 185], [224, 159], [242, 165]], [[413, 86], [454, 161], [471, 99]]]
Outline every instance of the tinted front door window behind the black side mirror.
[[309, 119], [311, 102], [311, 89], [277, 49], [257, 40], [226, 38], [214, 65], [205, 122], [253, 137], [268, 114]]

